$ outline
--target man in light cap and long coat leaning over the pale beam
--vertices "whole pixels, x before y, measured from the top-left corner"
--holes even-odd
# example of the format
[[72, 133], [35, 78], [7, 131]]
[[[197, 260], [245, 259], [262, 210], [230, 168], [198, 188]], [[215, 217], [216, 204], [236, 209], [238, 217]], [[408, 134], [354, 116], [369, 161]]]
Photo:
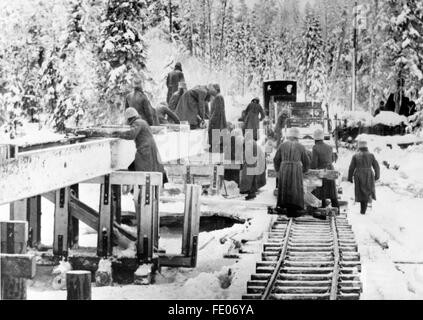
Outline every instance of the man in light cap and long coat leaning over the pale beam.
[[163, 173], [163, 183], [166, 183], [166, 172], [150, 126], [146, 121], [141, 119], [137, 110], [134, 108], [125, 110], [125, 118], [131, 129], [124, 133], [118, 133], [117, 136], [122, 139], [135, 141], [137, 152], [135, 154], [135, 160], [130, 166], [130, 170], [161, 172]]

